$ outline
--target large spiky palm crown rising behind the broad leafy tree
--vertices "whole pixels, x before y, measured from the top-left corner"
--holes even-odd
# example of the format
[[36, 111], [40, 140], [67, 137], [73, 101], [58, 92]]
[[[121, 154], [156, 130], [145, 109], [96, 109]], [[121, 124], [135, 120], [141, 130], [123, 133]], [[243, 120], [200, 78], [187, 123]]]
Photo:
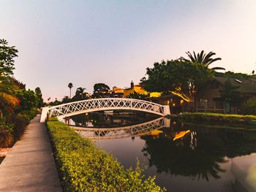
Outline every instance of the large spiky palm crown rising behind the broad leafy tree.
[[[207, 67], [210, 64], [214, 63], [215, 61], [222, 60], [222, 58], [211, 58], [213, 55], [216, 55], [216, 53], [210, 52], [206, 54], [204, 50], [202, 50], [201, 53], [197, 53], [197, 54], [195, 54], [195, 51], [193, 51], [193, 55], [189, 51], [186, 54], [188, 55], [189, 59], [184, 57], [181, 57], [179, 59], [181, 61], [190, 61], [195, 64], [203, 64]], [[219, 67], [219, 66], [211, 68], [211, 70], [217, 70], [217, 69], [225, 70], [225, 68]]]

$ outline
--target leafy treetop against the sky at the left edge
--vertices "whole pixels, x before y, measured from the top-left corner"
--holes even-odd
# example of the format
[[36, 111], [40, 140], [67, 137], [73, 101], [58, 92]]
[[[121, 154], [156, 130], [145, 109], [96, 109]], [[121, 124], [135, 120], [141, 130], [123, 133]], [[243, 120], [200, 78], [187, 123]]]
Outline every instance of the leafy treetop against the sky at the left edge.
[[0, 77], [13, 74], [14, 58], [18, 56], [18, 50], [15, 49], [15, 46], [9, 47], [7, 45], [7, 40], [0, 39]]

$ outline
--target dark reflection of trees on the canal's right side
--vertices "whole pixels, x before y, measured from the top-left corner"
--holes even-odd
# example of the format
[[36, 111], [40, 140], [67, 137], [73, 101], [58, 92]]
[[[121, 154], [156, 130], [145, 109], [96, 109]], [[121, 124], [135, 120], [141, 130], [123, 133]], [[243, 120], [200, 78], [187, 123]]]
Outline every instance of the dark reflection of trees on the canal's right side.
[[189, 129], [189, 134], [177, 140], [173, 140], [175, 131], [170, 128], [163, 129], [158, 139], [143, 136], [142, 139], [146, 140], [143, 153], [148, 158], [149, 166], [156, 166], [157, 172], [198, 180], [218, 179], [219, 173], [225, 172], [219, 164], [226, 161], [226, 156], [233, 158], [256, 151], [256, 131]]

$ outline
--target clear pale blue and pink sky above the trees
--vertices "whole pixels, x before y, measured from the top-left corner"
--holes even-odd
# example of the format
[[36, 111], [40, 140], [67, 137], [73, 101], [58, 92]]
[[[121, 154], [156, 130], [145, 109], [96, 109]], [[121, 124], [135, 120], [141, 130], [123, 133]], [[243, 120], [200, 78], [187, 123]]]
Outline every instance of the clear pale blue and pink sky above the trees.
[[0, 38], [15, 45], [15, 77], [45, 99], [128, 87], [154, 62], [213, 51], [233, 72], [256, 69], [255, 0], [0, 0]]

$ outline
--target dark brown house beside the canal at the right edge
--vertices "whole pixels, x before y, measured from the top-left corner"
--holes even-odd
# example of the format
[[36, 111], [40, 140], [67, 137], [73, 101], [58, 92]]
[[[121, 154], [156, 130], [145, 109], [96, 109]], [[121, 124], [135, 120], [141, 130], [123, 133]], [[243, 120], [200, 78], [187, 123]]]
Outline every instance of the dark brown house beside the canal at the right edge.
[[227, 101], [222, 99], [222, 90], [225, 82], [230, 81], [230, 84], [236, 88], [236, 91], [250, 98], [256, 96], [256, 80], [248, 78], [246, 80], [228, 78], [228, 77], [214, 77], [214, 80], [206, 82], [205, 85], [198, 88], [195, 95], [195, 110], [196, 112], [223, 112], [236, 113], [236, 107], [230, 106]]

